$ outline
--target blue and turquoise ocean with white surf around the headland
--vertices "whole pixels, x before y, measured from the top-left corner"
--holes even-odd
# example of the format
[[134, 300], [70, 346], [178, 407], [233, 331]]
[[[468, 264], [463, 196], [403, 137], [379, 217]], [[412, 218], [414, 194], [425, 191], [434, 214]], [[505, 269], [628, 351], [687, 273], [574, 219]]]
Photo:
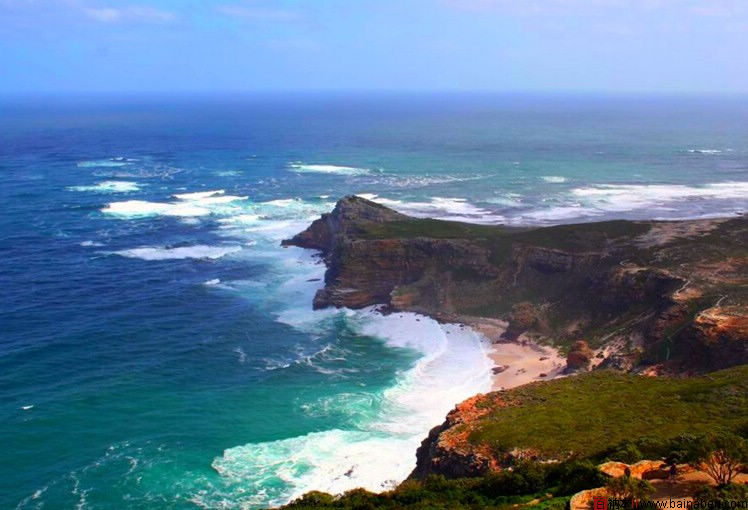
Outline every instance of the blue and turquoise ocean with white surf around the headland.
[[312, 311], [336, 199], [549, 225], [739, 214], [748, 98], [0, 100], [0, 508], [382, 490], [490, 389], [483, 340]]

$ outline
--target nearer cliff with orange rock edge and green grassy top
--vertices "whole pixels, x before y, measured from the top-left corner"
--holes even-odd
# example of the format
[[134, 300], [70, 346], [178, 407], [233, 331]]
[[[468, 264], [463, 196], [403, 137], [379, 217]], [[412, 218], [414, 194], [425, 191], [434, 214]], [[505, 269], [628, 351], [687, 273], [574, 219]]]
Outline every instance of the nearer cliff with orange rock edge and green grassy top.
[[747, 396], [747, 366], [681, 379], [600, 370], [476, 395], [431, 430], [411, 477], [482, 476], [518, 460], [619, 458], [617, 449], [637, 443], [659, 458], [684, 434], [741, 430]]

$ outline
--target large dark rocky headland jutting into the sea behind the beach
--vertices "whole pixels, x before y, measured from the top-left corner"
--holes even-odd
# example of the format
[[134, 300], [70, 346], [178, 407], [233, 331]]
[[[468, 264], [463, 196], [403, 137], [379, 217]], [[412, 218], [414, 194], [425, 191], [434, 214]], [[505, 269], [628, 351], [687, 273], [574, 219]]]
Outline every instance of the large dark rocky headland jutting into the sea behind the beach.
[[416, 219], [349, 196], [284, 244], [322, 252], [315, 308], [506, 319], [507, 340], [585, 340], [603, 356], [590, 367], [748, 362], [745, 217], [509, 228]]

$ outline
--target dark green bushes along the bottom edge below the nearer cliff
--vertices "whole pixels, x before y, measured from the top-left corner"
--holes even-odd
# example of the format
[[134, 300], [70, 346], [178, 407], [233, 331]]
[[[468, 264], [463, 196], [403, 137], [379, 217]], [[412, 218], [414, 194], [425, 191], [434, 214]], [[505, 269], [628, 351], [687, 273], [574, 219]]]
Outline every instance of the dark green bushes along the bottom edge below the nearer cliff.
[[338, 497], [310, 492], [283, 508], [458, 510], [500, 509], [521, 504], [540, 510], [562, 510], [571, 495], [604, 485], [605, 481], [606, 477], [590, 462], [528, 462], [482, 478], [447, 480], [430, 476], [422, 482], [407, 480], [382, 494], [363, 489]]

